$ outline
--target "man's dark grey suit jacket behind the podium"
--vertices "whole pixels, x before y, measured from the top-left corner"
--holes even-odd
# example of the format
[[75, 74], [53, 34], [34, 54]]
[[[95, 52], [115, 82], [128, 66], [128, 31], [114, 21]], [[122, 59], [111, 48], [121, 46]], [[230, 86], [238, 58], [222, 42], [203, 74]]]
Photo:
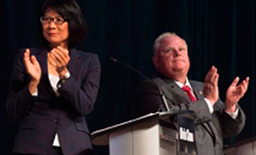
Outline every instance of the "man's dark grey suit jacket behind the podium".
[[195, 111], [195, 140], [198, 155], [221, 155], [223, 154], [223, 138], [235, 136], [240, 133], [245, 124], [245, 115], [239, 109], [237, 119], [232, 119], [224, 110], [224, 104], [218, 100], [211, 114], [204, 100], [203, 83], [189, 81], [197, 101], [191, 103], [184, 91], [169, 78], [159, 75], [153, 80], [145, 80], [138, 91], [135, 117], [165, 110], [164, 102], [160, 96], [159, 88], [163, 90], [167, 104], [172, 110], [190, 109]]

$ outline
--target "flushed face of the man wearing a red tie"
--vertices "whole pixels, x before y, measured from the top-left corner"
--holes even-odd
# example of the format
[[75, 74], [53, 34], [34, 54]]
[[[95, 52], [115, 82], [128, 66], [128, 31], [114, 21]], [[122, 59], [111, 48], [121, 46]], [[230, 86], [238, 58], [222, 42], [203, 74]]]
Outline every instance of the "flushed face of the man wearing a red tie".
[[156, 69], [168, 78], [187, 76], [190, 62], [185, 40], [179, 36], [165, 36], [160, 40], [160, 47], [153, 61]]

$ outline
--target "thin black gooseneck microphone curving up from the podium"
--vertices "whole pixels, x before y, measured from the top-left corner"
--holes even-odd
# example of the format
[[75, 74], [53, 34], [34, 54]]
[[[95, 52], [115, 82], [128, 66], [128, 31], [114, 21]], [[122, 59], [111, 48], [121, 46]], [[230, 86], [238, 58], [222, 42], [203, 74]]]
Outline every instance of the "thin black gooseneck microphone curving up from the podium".
[[[127, 64], [123, 63], [122, 61], [117, 60], [117, 59], [114, 58], [114, 57], [109, 57], [109, 59], [110, 59], [110, 61], [112, 61], [113, 63], [119, 63], [119, 64], [123, 65], [124, 67], [130, 68], [131, 70], [133, 70], [133, 71], [134, 71], [135, 73], [137, 73], [138, 75], [140, 75], [140, 76], [142, 76], [143, 78], [146, 78], [146, 79], [148, 79], [148, 80], [150, 80], [150, 81], [153, 81], [153, 83], [155, 83], [154, 80], [152, 80], [151, 78], [148, 78], [147, 76], [145, 76], [143, 73], [141, 73], [140, 71], [138, 71], [138, 70], [135, 69], [134, 67], [131, 67], [130, 65], [127, 65]], [[159, 90], [159, 93], [160, 93], [160, 96], [161, 96], [161, 98], [162, 98], [162, 100], [163, 100], [163, 102], [164, 102], [164, 106], [165, 106], [166, 111], [170, 111], [170, 109], [169, 109], [169, 107], [168, 107], [168, 104], [167, 104], [167, 101], [166, 101], [166, 98], [165, 98], [165, 95], [164, 95], [162, 89], [159, 88], [156, 83], [155, 83], [155, 86], [156, 86], [156, 88], [158, 88], [158, 90]]]

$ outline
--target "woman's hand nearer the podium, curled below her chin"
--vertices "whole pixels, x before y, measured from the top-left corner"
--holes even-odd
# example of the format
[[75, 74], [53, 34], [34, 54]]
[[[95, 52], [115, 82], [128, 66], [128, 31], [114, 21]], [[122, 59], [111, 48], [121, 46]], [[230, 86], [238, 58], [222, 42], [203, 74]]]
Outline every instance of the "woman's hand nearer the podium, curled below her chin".
[[59, 78], [63, 78], [68, 72], [69, 50], [63, 47], [56, 47], [50, 51], [51, 57], [56, 63], [56, 71], [59, 73]]

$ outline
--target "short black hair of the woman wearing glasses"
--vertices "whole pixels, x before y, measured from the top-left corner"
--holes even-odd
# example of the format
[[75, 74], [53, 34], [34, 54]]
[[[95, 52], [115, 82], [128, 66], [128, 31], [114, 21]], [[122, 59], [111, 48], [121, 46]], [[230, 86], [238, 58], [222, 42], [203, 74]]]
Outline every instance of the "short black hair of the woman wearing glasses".
[[[75, 0], [46, 0], [41, 15], [52, 9], [69, 23], [68, 47], [77, 46], [86, 36], [87, 26], [80, 6]], [[48, 47], [48, 41], [43, 37], [43, 45]]]

